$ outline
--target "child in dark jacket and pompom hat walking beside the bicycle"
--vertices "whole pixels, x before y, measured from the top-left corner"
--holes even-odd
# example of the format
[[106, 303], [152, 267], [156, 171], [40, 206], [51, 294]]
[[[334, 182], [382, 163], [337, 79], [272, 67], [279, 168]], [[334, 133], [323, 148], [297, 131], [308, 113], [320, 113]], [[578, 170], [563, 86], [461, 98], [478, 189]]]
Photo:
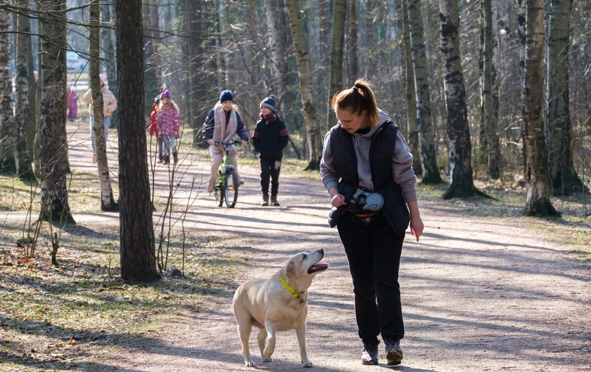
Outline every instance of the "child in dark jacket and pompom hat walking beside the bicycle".
[[276, 96], [271, 94], [260, 103], [260, 120], [252, 134], [254, 149], [260, 159], [260, 187], [262, 191], [262, 205], [269, 205], [269, 178], [271, 178], [271, 205], [279, 206], [277, 194], [279, 191], [279, 171], [283, 149], [287, 145], [289, 135], [285, 124], [277, 114]]

